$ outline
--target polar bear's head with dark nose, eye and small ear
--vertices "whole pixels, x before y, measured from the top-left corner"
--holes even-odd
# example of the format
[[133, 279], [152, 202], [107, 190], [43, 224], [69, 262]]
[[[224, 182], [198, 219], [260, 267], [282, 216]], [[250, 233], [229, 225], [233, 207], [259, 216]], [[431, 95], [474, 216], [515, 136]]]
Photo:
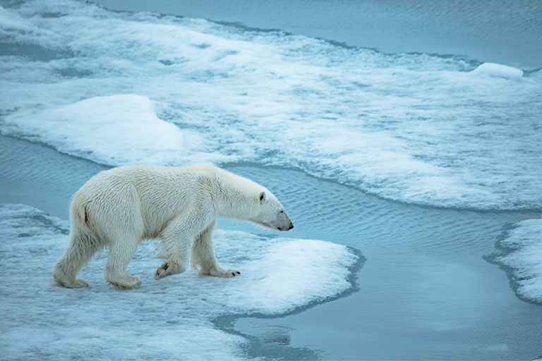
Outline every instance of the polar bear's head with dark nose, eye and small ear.
[[260, 190], [255, 201], [256, 212], [251, 219], [255, 224], [276, 231], [289, 231], [294, 228], [288, 215], [284, 212], [284, 207], [272, 192], [266, 189]]

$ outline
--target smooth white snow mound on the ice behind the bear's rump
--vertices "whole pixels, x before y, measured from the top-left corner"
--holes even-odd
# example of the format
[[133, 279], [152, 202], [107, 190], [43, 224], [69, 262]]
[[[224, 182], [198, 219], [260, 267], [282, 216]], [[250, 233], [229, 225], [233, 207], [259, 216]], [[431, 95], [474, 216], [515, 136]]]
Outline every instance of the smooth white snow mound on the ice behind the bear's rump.
[[198, 141], [157, 118], [148, 97], [128, 94], [16, 114], [4, 132], [104, 164], [173, 164]]

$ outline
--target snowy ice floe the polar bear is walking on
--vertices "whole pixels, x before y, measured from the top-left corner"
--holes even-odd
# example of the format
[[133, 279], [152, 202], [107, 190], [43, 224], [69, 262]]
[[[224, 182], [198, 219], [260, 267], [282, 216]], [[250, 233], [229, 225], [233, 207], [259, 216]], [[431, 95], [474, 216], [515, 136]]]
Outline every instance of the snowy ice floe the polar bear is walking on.
[[[38, 209], [0, 207], [2, 358], [71, 360], [234, 360], [246, 339], [217, 329], [224, 314], [274, 315], [351, 288], [347, 247], [318, 240], [263, 238], [217, 231], [219, 261], [242, 276], [217, 279], [184, 273], [152, 279], [153, 245], [140, 247], [128, 272], [143, 279], [117, 292], [103, 279], [105, 257], [80, 272], [90, 288], [67, 289], [49, 271], [68, 240], [68, 222]], [[281, 262], [277, 262], [280, 259]]]

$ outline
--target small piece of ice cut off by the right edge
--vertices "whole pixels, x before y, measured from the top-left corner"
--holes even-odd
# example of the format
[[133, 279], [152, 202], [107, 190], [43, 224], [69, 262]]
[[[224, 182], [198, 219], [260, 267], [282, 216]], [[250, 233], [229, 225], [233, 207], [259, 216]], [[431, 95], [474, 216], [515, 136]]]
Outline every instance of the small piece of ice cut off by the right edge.
[[495, 261], [512, 269], [520, 297], [542, 304], [542, 219], [526, 219], [500, 241], [507, 255]]

